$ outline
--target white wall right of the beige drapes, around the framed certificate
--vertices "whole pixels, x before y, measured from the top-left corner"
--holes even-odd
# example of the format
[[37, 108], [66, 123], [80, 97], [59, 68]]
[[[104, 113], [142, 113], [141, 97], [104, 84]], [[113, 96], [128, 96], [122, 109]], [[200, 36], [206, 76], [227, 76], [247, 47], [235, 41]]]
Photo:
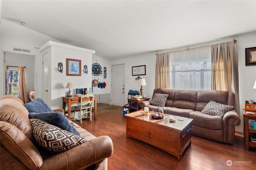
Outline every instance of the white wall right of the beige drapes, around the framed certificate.
[[256, 47], [256, 33], [245, 34], [235, 38], [237, 40], [238, 72], [239, 72], [239, 98], [240, 98], [240, 126], [236, 131], [243, 132], [244, 118], [242, 108], [245, 100], [256, 100], [256, 89], [253, 89], [256, 80], [256, 65], [245, 66], [245, 48]]

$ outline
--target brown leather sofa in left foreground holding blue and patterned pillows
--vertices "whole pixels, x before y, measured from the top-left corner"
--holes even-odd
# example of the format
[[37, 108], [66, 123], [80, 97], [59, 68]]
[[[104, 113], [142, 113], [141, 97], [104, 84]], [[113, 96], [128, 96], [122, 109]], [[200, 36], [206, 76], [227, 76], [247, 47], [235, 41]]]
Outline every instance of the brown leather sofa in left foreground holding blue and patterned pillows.
[[[58, 109], [54, 111], [61, 111]], [[28, 111], [15, 96], [0, 99], [0, 169], [1, 170], [106, 170], [113, 153], [110, 137], [94, 137], [71, 122], [81, 137], [88, 140], [70, 150], [49, 153], [40, 149], [32, 137]]]

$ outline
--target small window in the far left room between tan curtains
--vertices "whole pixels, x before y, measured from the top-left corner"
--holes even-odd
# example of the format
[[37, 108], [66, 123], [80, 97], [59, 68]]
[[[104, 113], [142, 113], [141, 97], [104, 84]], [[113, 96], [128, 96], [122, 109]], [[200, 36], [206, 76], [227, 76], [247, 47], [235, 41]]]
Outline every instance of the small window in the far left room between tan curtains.
[[18, 70], [6, 71], [6, 95], [18, 96]]

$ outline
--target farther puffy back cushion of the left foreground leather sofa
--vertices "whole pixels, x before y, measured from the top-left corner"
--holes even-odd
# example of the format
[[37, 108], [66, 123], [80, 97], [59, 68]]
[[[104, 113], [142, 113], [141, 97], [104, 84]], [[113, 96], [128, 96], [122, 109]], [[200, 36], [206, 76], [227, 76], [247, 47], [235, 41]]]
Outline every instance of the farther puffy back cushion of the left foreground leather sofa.
[[33, 141], [28, 110], [18, 101], [20, 99], [16, 98], [2, 97], [0, 99], [0, 121], [16, 126], [30, 141]]

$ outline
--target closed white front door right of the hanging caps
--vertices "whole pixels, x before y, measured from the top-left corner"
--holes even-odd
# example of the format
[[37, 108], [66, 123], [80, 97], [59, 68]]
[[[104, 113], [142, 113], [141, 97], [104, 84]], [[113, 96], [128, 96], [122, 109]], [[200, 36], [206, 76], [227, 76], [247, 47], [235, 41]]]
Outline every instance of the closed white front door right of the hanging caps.
[[112, 66], [112, 105], [124, 106], [124, 64]]

